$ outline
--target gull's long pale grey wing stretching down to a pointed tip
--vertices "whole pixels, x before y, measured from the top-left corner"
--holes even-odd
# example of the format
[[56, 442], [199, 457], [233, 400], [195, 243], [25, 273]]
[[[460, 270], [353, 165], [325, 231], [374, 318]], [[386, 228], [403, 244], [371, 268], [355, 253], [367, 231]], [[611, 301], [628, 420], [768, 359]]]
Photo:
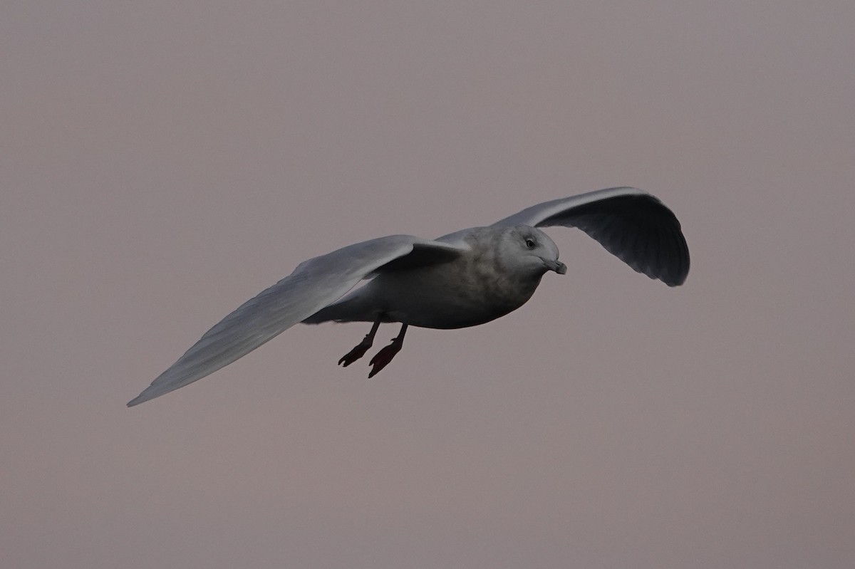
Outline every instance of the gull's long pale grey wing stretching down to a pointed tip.
[[449, 243], [392, 235], [304, 261], [285, 279], [262, 290], [206, 331], [127, 406], [162, 396], [227, 366], [338, 300], [360, 280], [386, 266], [436, 264], [456, 258], [464, 250]]

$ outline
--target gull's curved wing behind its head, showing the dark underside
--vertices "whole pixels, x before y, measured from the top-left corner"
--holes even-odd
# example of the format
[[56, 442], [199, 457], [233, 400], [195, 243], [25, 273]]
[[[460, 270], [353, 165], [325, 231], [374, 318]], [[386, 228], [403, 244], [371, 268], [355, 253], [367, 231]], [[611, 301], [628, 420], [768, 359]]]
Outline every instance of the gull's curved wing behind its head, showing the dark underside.
[[578, 227], [611, 254], [666, 285], [682, 285], [689, 249], [680, 221], [657, 197], [636, 188], [609, 188], [543, 202], [493, 226]]

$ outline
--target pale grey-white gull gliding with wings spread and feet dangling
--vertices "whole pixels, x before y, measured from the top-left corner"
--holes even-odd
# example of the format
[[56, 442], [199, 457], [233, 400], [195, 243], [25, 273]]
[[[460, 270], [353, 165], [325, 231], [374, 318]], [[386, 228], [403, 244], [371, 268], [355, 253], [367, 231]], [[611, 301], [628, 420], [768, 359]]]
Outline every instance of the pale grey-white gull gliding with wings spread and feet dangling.
[[[300, 263], [205, 332], [127, 405], [191, 384], [300, 322], [372, 322], [363, 341], [339, 360], [344, 366], [371, 348], [381, 322], [399, 322], [398, 336], [369, 362], [373, 377], [401, 349], [408, 326], [484, 324], [525, 304], [547, 271], [566, 273], [555, 243], [537, 229], [551, 226], [578, 227], [666, 285], [682, 285], [689, 272], [689, 250], [675, 215], [657, 197], [628, 187], [540, 203], [492, 226], [433, 240], [371, 239]], [[351, 291], [363, 279], [369, 282]]]

